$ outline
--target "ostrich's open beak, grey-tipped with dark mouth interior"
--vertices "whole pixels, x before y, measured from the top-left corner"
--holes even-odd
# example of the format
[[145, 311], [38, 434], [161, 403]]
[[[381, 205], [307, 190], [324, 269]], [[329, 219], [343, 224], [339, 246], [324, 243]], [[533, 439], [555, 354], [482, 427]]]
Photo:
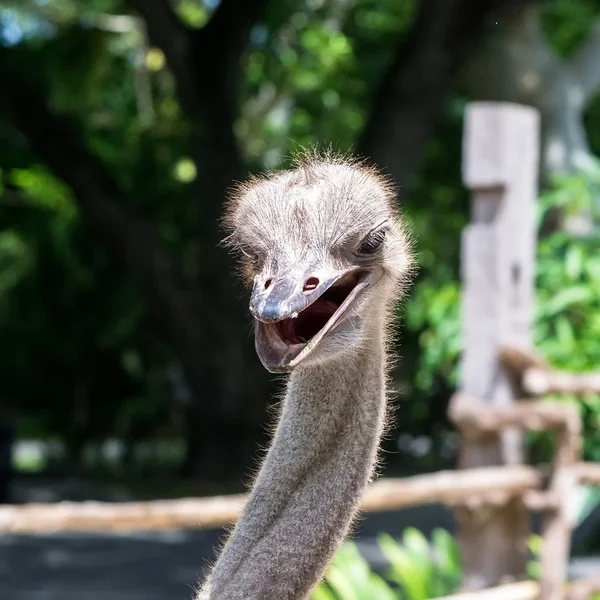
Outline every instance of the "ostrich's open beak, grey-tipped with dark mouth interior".
[[250, 300], [258, 356], [272, 373], [291, 371], [348, 315], [380, 271], [351, 268], [319, 277], [257, 281]]

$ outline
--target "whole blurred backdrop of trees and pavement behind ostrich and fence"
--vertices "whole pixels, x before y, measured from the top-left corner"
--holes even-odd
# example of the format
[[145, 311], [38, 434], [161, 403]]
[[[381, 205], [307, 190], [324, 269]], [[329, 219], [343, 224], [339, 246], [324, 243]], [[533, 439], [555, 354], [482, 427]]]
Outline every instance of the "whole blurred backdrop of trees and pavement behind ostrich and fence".
[[[315, 144], [391, 174], [415, 234], [385, 474], [452, 468], [465, 106], [541, 112], [535, 343], [581, 371], [600, 364], [598, 91], [596, 0], [2, 0], [1, 501], [244, 490], [280, 382], [219, 217], [232, 182]], [[598, 461], [600, 397], [572, 402]], [[369, 519], [367, 541], [453, 528], [441, 507]], [[217, 537], [3, 536], [0, 597], [187, 598]]]

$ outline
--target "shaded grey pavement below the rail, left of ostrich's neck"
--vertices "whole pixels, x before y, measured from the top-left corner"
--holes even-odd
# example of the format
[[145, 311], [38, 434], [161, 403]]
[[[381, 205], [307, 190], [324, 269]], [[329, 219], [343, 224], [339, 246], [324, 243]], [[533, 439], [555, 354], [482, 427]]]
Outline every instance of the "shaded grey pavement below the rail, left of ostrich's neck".
[[190, 600], [209, 533], [0, 538], [2, 600]]

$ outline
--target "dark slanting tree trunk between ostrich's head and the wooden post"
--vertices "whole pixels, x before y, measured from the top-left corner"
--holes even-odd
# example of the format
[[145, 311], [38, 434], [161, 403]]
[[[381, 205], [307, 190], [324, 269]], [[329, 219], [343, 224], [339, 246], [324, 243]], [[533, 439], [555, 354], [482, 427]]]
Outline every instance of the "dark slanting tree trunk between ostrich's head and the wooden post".
[[423, 0], [373, 101], [359, 150], [400, 184], [417, 169], [455, 76], [489, 19], [531, 0]]

